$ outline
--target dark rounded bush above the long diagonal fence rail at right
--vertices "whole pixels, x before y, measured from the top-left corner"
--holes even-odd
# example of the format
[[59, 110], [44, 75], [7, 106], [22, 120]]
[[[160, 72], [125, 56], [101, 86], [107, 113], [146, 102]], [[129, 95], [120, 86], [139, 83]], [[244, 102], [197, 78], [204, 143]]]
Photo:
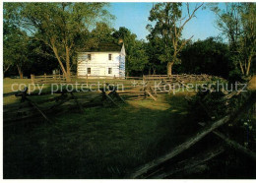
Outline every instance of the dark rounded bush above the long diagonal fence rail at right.
[[191, 98], [188, 108], [192, 121], [211, 122], [237, 112], [250, 95], [250, 91], [241, 91], [230, 98], [224, 96], [230, 93], [228, 91], [244, 90], [242, 88], [243, 86], [237, 86], [236, 89], [233, 84], [220, 80], [213, 80], [207, 87], [199, 88], [197, 94]]

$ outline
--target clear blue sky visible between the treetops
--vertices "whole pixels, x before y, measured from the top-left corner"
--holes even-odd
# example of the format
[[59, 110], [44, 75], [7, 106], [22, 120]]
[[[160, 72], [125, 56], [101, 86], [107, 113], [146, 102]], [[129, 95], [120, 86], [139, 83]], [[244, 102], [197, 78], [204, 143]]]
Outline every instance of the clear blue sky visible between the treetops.
[[[191, 7], [195, 3], [190, 3]], [[136, 33], [139, 39], [145, 39], [149, 31], [146, 30], [150, 10], [153, 2], [149, 3], [110, 3], [109, 11], [116, 17], [113, 21], [113, 27], [118, 30], [119, 27], [125, 27]], [[183, 37], [189, 38], [194, 35], [193, 40], [205, 39], [209, 36], [217, 36], [220, 31], [215, 26], [215, 15], [209, 9], [198, 10], [197, 18], [192, 19], [183, 30]]]

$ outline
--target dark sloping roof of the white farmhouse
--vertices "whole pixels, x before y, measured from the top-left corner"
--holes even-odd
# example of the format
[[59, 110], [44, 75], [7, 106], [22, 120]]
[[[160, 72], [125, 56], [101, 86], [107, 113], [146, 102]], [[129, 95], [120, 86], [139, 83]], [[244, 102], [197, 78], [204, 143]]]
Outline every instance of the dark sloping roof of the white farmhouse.
[[89, 49], [85, 49], [85, 52], [111, 52], [111, 51], [121, 51], [122, 44], [117, 44], [114, 42], [101, 42], [97, 46], [93, 46]]

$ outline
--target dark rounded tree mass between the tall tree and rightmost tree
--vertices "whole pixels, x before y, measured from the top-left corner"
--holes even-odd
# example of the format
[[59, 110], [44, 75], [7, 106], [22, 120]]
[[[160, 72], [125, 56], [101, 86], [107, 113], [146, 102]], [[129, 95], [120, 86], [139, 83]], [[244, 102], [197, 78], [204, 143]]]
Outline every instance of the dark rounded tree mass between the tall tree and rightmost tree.
[[218, 37], [189, 42], [180, 53], [182, 63], [176, 65], [181, 73], [209, 74], [228, 78], [230, 59], [228, 45]]

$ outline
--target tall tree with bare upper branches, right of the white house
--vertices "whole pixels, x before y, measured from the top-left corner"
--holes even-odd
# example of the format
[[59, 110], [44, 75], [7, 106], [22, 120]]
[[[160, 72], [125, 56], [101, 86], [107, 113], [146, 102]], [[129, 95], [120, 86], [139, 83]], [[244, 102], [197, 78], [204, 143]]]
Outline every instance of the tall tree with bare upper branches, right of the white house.
[[203, 4], [196, 5], [191, 12], [189, 3], [186, 3], [187, 15], [182, 15], [182, 3], [158, 3], [150, 12], [149, 20], [156, 22], [155, 27], [148, 25], [152, 36], [162, 39], [163, 53], [160, 55], [162, 62], [167, 62], [167, 75], [171, 75], [173, 64], [178, 63], [179, 53], [189, 39], [181, 39], [182, 30], [186, 24], [195, 17], [196, 11]]

